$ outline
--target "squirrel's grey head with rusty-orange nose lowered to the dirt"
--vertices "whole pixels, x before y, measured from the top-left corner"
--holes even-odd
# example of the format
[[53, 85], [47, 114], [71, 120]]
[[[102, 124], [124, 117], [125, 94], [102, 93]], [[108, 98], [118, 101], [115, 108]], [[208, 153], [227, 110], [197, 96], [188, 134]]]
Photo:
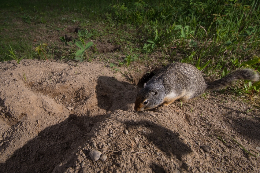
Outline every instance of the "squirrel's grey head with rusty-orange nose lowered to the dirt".
[[147, 109], [156, 108], [163, 102], [162, 93], [156, 89], [142, 88], [137, 96], [135, 102], [136, 111], [144, 111]]

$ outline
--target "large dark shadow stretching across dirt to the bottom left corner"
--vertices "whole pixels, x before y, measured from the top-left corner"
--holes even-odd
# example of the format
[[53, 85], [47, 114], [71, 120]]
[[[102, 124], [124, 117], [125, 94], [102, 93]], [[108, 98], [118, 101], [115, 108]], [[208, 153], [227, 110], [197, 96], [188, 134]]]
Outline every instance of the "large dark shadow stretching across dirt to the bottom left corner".
[[71, 114], [63, 122], [45, 128], [12, 156], [7, 156], [9, 159], [0, 164], [0, 172], [52, 172], [57, 164], [85, 143], [88, 132], [104, 116]]

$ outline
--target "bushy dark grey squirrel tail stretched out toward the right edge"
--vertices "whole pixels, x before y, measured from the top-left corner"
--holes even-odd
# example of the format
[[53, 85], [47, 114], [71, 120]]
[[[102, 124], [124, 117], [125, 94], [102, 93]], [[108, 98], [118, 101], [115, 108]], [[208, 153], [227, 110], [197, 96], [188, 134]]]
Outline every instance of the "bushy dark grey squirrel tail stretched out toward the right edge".
[[223, 89], [227, 86], [230, 86], [233, 82], [237, 80], [253, 80], [258, 81], [260, 79], [259, 73], [257, 71], [254, 71], [254, 69], [251, 68], [241, 68], [234, 72], [229, 73], [225, 77], [218, 79], [216, 81], [206, 83], [208, 90], [217, 90], [217, 89]]

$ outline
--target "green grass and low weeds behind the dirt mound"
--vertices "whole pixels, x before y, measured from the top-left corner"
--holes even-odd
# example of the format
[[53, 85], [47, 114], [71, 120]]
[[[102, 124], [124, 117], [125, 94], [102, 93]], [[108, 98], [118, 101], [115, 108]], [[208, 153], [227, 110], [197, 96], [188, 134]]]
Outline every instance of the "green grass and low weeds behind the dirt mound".
[[[200, 66], [212, 60], [203, 70], [206, 75], [218, 75], [224, 66], [235, 67], [232, 59], [245, 61], [253, 55], [260, 56], [258, 3], [258, 0], [1, 1], [0, 61], [11, 60], [6, 55], [9, 45], [18, 57], [39, 59], [34, 49], [43, 42], [49, 45], [48, 59], [73, 60], [78, 48], [65, 46], [57, 38], [64, 36], [68, 26], [79, 26], [93, 34], [91, 40], [123, 45], [118, 52], [123, 56], [140, 53], [137, 63], [161, 66], [181, 61], [195, 65], [200, 58]], [[76, 33], [72, 36], [77, 38]], [[32, 42], [34, 39], [39, 42]], [[143, 48], [145, 44], [148, 47]], [[191, 56], [192, 53], [195, 55]], [[99, 55], [93, 53], [88, 60]], [[118, 55], [103, 57], [117, 65], [119, 61], [127, 64]]]

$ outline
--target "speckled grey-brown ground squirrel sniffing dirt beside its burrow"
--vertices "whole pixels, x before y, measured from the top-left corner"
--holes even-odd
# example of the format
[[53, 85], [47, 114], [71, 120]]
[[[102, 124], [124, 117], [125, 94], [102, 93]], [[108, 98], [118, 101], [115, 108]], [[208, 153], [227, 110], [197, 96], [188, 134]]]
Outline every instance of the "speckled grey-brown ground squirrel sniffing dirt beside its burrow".
[[258, 81], [259, 73], [251, 68], [241, 68], [221, 79], [207, 83], [201, 72], [191, 64], [168, 64], [138, 92], [135, 110], [144, 111], [162, 104], [168, 106], [178, 99], [186, 102], [205, 90], [221, 89], [239, 79]]

